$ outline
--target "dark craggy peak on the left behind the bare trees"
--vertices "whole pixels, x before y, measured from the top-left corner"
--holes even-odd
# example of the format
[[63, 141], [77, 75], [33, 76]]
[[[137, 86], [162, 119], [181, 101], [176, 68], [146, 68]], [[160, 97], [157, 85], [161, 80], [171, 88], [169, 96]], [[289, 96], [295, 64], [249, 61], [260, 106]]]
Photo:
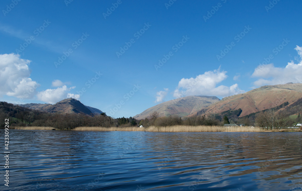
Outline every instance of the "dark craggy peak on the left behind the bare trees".
[[45, 111], [48, 113], [55, 113], [55, 112], [61, 112], [67, 114], [82, 113], [85, 115], [103, 113], [101, 110], [98, 110], [93, 107], [85, 106], [80, 101], [73, 98], [64, 99], [53, 105], [52, 104], [20, 104], [20, 106], [39, 110], [39, 111]]

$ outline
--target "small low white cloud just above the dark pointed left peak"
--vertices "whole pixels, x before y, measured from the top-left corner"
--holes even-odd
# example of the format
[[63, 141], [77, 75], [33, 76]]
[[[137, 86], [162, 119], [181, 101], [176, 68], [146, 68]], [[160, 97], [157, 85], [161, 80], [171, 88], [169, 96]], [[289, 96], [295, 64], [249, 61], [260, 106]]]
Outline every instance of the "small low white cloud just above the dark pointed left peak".
[[75, 86], [73, 87], [67, 87], [66, 85], [62, 87], [58, 87], [56, 89], [47, 89], [45, 91], [41, 91], [37, 94], [38, 100], [44, 101], [48, 104], [55, 104], [63, 99], [69, 98], [69, 97], [78, 97], [78, 94], [69, 94], [68, 92], [72, 89], [74, 89]]

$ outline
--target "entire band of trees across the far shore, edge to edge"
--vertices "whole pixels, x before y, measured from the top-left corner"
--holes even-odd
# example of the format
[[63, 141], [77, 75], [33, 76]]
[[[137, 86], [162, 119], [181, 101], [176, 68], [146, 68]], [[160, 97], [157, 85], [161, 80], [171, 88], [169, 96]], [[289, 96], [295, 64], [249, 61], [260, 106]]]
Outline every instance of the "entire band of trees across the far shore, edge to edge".
[[[239, 117], [241, 109], [228, 110], [220, 114], [197, 115], [192, 117], [159, 117], [153, 112], [143, 120], [133, 117], [113, 118], [106, 113], [90, 116], [84, 114], [47, 113], [21, 107], [18, 105], [0, 102], [0, 128], [4, 128], [4, 119], [8, 118], [11, 126], [39, 126], [54, 127], [57, 129], [73, 129], [75, 127], [130, 127], [130, 126], [172, 126], [172, 125], [223, 125], [225, 123], [240, 123], [247, 126], [257, 126], [265, 129], [290, 127], [301, 123], [302, 98], [296, 102], [283, 104], [262, 110], [244, 117]], [[293, 117], [293, 114], [298, 116]]]

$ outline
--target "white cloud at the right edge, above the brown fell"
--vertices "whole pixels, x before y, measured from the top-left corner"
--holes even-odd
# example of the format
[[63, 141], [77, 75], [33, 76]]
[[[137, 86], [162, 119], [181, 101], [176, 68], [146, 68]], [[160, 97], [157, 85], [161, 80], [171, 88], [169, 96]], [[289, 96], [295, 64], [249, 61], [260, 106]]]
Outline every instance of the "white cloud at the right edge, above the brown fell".
[[302, 47], [297, 46], [295, 50], [298, 52], [296, 59], [299, 61], [288, 62], [285, 68], [275, 67], [274, 64], [259, 65], [255, 68], [252, 77], [260, 78], [254, 82], [259, 87], [262, 85], [286, 84], [288, 82], [302, 83]]

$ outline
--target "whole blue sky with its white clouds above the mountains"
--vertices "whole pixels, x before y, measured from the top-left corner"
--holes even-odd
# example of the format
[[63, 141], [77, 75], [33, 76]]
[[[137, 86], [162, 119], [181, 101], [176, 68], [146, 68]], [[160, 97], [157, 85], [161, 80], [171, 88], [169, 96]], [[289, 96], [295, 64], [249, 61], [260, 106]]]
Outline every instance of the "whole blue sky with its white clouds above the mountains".
[[0, 100], [74, 97], [117, 118], [188, 95], [221, 99], [302, 83], [301, 7], [298, 0], [2, 0]]

